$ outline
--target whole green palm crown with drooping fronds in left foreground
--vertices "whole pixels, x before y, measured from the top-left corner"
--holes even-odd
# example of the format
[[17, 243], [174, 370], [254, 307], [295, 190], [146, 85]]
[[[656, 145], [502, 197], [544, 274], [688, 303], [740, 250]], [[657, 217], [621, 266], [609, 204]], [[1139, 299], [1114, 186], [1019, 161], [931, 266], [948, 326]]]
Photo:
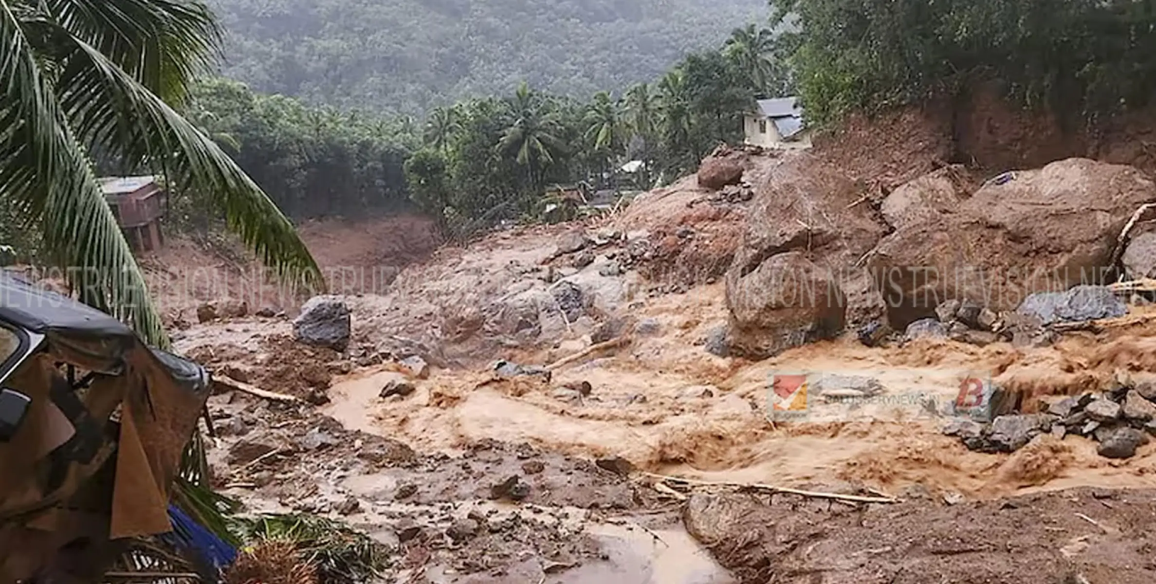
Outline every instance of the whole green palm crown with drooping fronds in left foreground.
[[168, 345], [144, 278], [92, 170], [92, 153], [202, 192], [265, 265], [323, 287], [292, 224], [173, 109], [220, 43], [188, 0], [0, 0], [0, 197], [43, 235], [83, 302]]

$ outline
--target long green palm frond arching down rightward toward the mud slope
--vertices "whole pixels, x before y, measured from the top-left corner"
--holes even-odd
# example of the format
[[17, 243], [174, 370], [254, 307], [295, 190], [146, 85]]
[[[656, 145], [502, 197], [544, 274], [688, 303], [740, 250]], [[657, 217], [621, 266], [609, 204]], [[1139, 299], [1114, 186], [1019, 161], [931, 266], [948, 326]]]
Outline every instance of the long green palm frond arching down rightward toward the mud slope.
[[229, 228], [279, 275], [324, 288], [292, 224], [213, 140], [138, 83], [96, 47], [64, 29], [71, 43], [59, 97], [77, 135], [129, 163], [157, 165], [176, 192], [205, 191]]

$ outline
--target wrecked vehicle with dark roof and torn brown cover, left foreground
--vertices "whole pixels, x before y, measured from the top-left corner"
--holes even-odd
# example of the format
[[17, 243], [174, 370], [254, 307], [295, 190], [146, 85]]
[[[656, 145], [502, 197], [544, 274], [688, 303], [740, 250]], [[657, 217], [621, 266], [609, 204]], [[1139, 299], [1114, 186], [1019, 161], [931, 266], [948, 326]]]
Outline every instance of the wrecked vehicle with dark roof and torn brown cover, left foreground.
[[99, 582], [170, 532], [209, 375], [69, 297], [0, 274], [0, 584]]

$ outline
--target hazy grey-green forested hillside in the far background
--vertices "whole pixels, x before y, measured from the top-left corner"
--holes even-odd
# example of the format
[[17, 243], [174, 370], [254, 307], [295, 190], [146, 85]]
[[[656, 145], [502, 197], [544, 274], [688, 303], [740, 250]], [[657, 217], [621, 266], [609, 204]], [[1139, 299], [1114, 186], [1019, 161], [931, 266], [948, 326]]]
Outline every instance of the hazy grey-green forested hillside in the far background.
[[764, 22], [765, 0], [209, 0], [222, 73], [314, 103], [421, 114], [519, 81], [587, 98]]

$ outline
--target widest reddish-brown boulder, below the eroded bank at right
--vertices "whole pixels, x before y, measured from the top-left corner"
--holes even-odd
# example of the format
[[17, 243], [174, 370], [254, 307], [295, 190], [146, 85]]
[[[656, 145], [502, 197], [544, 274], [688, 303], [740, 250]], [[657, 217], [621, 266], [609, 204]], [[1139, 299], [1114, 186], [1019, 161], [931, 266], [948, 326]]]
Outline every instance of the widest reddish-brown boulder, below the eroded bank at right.
[[887, 301], [899, 310], [892, 315], [906, 321], [934, 316], [948, 298], [1014, 310], [1035, 291], [1098, 282], [1120, 229], [1156, 200], [1156, 185], [1141, 171], [1087, 158], [1001, 176], [954, 210], [942, 180], [921, 188], [918, 197], [902, 187], [891, 194], [905, 205], [884, 201], [895, 231], [867, 261], [887, 282]]

